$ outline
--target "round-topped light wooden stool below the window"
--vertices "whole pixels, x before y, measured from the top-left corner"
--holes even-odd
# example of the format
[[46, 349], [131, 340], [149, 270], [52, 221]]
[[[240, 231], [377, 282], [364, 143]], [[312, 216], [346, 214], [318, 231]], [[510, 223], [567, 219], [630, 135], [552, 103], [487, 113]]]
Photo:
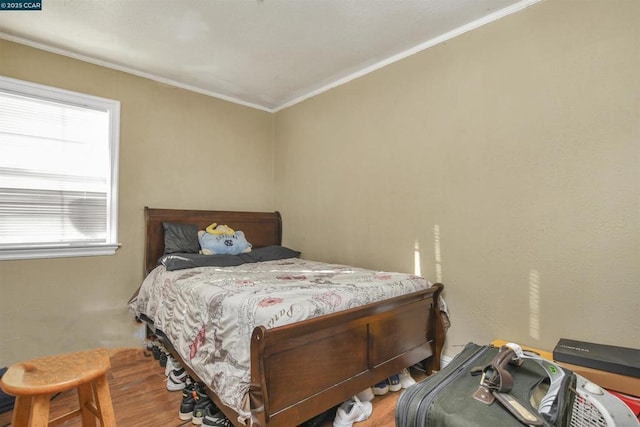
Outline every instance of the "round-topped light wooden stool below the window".
[[[12, 427], [45, 427], [81, 416], [83, 426], [114, 427], [107, 369], [111, 367], [104, 349], [42, 357], [9, 366], [0, 387], [16, 396]], [[80, 408], [49, 421], [54, 394], [78, 389]]]

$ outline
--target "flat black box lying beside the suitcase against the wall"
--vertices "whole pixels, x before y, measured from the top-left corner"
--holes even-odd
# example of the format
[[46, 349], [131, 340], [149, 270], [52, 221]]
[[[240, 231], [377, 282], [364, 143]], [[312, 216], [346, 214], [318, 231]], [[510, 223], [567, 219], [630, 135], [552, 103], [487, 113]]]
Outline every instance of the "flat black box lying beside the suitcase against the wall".
[[553, 349], [553, 359], [640, 378], [640, 350], [561, 338]]

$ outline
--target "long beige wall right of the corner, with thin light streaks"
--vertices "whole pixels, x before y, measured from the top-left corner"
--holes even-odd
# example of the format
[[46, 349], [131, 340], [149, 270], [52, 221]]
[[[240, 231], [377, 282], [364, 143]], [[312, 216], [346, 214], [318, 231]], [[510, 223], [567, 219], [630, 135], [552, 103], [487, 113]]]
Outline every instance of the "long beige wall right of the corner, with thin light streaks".
[[638, 22], [636, 0], [545, 1], [277, 113], [286, 243], [407, 272], [417, 245], [449, 355], [637, 347]]

